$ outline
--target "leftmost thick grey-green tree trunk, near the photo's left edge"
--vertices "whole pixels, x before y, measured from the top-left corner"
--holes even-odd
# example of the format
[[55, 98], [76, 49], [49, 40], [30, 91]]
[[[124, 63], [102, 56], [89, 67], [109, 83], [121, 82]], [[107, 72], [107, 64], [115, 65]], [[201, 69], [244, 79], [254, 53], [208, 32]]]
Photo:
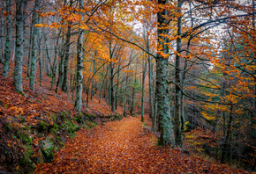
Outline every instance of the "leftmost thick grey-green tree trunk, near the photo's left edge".
[[11, 59], [11, 0], [6, 0], [6, 40], [5, 40], [5, 49], [4, 51], [4, 70], [3, 76], [9, 76], [9, 67], [10, 67], [10, 59]]

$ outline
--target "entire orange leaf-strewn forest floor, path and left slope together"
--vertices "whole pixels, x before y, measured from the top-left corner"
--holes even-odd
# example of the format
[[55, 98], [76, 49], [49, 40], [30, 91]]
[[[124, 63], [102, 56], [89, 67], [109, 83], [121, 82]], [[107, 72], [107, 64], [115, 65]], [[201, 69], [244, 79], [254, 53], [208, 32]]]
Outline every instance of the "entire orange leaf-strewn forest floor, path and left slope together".
[[[3, 65], [0, 64], [1, 75], [2, 71]], [[13, 72], [13, 64], [10, 71]], [[55, 123], [49, 115], [77, 114], [73, 109], [72, 92], [66, 94], [59, 90], [56, 93], [50, 88], [49, 76], [44, 75], [41, 85], [36, 83], [35, 91], [31, 91], [24, 68], [24, 93], [15, 91], [12, 76], [13, 73], [8, 78], [0, 76], [0, 156], [3, 157], [3, 147], [6, 155], [11, 154], [10, 162], [6, 157], [0, 159], [0, 170], [9, 172], [20, 170], [20, 153], [31, 152], [31, 157], [37, 159], [38, 142], [50, 135], [44, 131], [40, 136], [32, 130], [40, 120], [50, 127]], [[89, 101], [88, 108], [83, 105], [82, 112], [97, 116], [115, 114], [110, 111], [106, 100], [102, 99], [99, 104], [96, 97]], [[117, 112], [122, 114], [120, 106]], [[55, 153], [52, 163], [38, 164], [34, 173], [250, 173], [208, 162], [183, 149], [159, 147], [158, 138], [150, 131], [148, 117], [146, 122], [140, 122], [140, 116], [130, 116], [80, 129], [73, 139], [64, 134], [64, 148]], [[17, 135], [22, 136], [18, 138]], [[33, 137], [33, 141], [27, 141], [28, 137]], [[24, 164], [25, 168], [31, 165], [29, 159]], [[23, 173], [28, 173], [23, 170]]]

